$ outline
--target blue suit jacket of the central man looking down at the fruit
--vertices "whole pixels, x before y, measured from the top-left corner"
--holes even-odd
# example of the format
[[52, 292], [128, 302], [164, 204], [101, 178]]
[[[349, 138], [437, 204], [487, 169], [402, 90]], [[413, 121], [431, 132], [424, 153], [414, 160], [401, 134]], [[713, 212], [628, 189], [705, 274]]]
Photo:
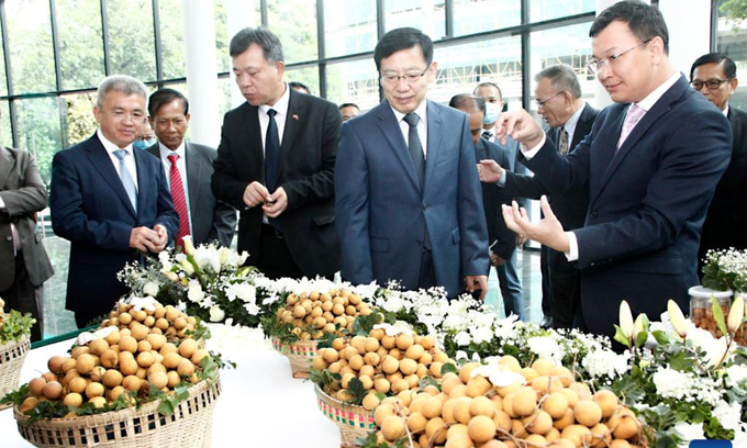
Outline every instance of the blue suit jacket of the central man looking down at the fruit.
[[401, 280], [414, 289], [425, 229], [438, 284], [449, 296], [462, 277], [489, 269], [488, 231], [464, 112], [427, 102], [424, 187], [388, 101], [343, 123], [335, 211], [343, 278], [359, 284]]

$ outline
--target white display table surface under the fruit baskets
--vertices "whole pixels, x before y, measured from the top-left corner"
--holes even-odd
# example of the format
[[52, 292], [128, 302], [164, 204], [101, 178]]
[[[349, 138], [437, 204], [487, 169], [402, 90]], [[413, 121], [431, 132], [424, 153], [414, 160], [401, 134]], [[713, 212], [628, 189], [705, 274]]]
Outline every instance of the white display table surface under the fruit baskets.
[[[215, 329], [209, 348], [237, 367], [221, 371], [223, 392], [213, 417], [213, 447], [339, 446], [339, 429], [320, 412], [314, 384], [294, 380], [288, 359], [258, 331]], [[46, 361], [65, 354], [71, 344], [73, 339], [31, 350], [21, 383], [47, 371]], [[3, 448], [32, 446], [19, 434], [12, 408], [0, 411], [0, 434]]]

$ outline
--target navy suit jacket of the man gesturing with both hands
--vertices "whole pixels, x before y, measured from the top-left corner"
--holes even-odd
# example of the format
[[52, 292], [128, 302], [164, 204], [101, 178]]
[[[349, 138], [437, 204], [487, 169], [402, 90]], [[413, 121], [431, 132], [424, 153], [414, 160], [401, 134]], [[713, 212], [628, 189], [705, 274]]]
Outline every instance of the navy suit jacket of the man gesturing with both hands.
[[584, 226], [573, 233], [583, 317], [597, 334], [614, 334], [622, 300], [649, 318], [669, 299], [687, 307], [701, 227], [732, 146], [724, 115], [684, 77], [616, 149], [627, 108], [604, 109], [567, 157], [547, 139], [525, 161], [553, 194], [589, 189]]

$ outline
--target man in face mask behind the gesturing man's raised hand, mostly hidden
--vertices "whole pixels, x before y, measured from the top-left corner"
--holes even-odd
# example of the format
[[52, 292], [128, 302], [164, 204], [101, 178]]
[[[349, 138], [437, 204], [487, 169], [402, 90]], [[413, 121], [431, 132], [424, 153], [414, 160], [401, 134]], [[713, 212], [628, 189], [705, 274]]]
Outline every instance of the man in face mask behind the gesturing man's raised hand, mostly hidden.
[[[506, 153], [509, 159], [506, 169], [509, 171], [528, 175], [529, 171], [522, 164], [516, 163], [516, 147], [519, 144], [511, 138], [506, 138], [504, 145], [495, 138], [495, 133], [493, 132], [498, 115], [500, 115], [503, 110], [501, 89], [493, 82], [482, 82], [475, 88], [473, 94], [482, 98], [486, 102], [486, 112], [484, 117], [482, 119], [482, 138], [497, 144], [502, 152]], [[522, 206], [528, 209], [528, 200], [520, 199], [519, 201]], [[516, 246], [521, 246], [522, 244], [524, 244], [524, 240], [521, 237], [517, 237]], [[516, 250], [511, 253], [510, 258], [491, 261], [491, 264], [495, 266], [495, 275], [498, 276], [498, 282], [501, 287], [501, 296], [503, 298], [506, 315], [513, 311], [513, 313], [523, 321], [525, 317], [524, 289], [522, 288], [519, 272], [516, 271]], [[544, 301], [543, 312], [545, 312]], [[549, 301], [545, 315], [550, 315]]]

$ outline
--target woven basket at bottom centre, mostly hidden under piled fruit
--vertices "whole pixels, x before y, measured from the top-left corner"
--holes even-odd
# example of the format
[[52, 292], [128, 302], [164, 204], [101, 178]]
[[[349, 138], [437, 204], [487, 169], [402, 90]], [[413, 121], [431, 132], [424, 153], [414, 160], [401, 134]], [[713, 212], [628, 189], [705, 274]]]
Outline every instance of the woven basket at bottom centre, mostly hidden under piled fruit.
[[374, 413], [364, 406], [356, 406], [335, 400], [324, 393], [319, 385], [315, 388], [316, 403], [320, 411], [339, 427], [341, 447], [357, 447], [356, 440], [366, 437], [376, 429]]

